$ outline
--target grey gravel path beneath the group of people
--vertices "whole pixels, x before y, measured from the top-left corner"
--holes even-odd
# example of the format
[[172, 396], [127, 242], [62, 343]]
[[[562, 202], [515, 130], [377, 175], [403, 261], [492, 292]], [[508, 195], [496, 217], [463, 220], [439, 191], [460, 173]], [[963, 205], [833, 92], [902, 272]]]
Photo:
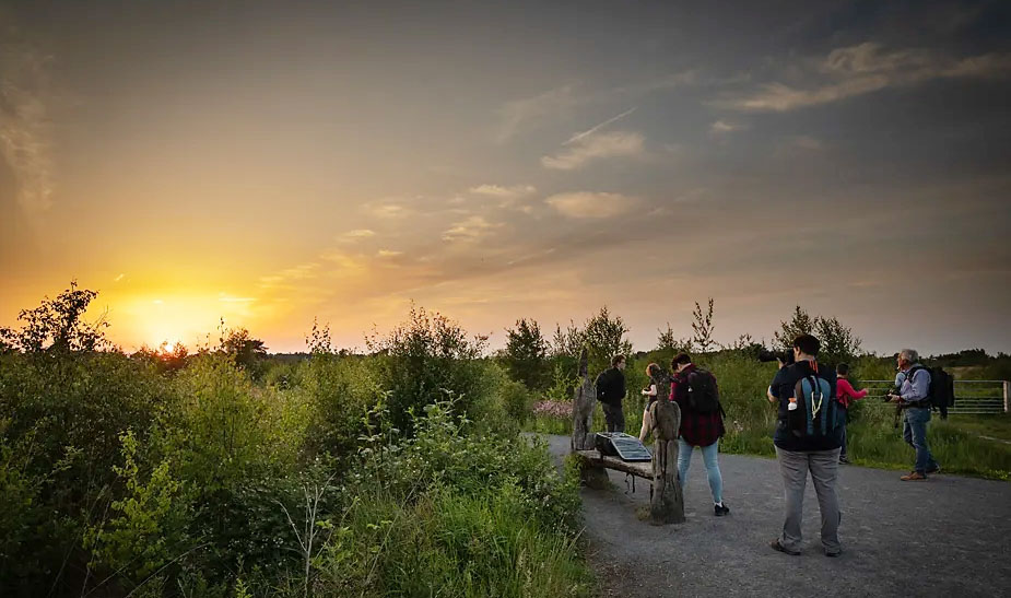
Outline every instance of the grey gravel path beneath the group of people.
[[[567, 436], [546, 436], [568, 453]], [[910, 449], [910, 459], [913, 457]], [[601, 596], [1011, 596], [1011, 484], [957, 476], [901, 482], [900, 472], [845, 466], [839, 473], [844, 553], [824, 556], [810, 478], [804, 548], [768, 548], [783, 525], [783, 489], [772, 459], [720, 455], [731, 513], [713, 516], [702, 455], [692, 459], [687, 521], [650, 526], [636, 518], [649, 483], [583, 490], [590, 561]]]

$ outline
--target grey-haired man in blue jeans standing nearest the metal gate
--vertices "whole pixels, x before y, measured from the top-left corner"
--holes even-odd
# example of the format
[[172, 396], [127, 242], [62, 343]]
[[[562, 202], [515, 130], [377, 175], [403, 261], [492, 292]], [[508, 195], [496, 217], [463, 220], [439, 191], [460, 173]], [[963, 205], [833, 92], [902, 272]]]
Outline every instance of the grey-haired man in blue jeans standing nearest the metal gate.
[[[913, 349], [903, 349], [898, 353], [898, 368], [903, 373], [902, 386], [897, 395], [889, 395], [892, 402], [897, 402], [903, 411], [902, 437], [916, 450], [916, 465], [913, 471], [900, 478], [904, 482], [921, 481], [928, 473], [941, 471], [941, 466], [933, 459], [927, 446], [927, 422], [930, 421], [931, 376], [930, 371], [919, 364], [919, 353]], [[942, 390], [938, 388], [938, 390]], [[939, 392], [940, 394], [940, 392]]]

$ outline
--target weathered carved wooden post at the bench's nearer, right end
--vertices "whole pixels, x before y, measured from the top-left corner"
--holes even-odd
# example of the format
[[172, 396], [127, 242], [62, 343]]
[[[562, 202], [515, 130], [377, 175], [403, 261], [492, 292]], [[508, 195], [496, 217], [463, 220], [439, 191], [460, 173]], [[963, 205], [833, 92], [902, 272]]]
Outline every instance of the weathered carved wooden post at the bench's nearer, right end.
[[678, 403], [659, 399], [649, 408], [653, 434], [653, 500], [649, 518], [654, 524], [684, 523], [684, 496], [678, 479], [678, 432], [681, 429], [681, 408]]

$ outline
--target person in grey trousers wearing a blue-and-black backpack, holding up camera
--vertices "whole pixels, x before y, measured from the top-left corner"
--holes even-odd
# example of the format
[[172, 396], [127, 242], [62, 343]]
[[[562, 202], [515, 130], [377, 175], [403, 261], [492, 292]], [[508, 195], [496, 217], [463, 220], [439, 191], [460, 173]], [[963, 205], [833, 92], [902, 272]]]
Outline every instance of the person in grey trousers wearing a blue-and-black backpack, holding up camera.
[[818, 494], [822, 516], [822, 548], [826, 556], [838, 556], [839, 500], [835, 492], [843, 446], [843, 412], [835, 391], [835, 372], [820, 367], [816, 355], [821, 342], [811, 335], [793, 339], [792, 365], [780, 367], [768, 395], [778, 402], [779, 415], [773, 436], [786, 495], [783, 533], [772, 548], [800, 554], [801, 520], [808, 472]]

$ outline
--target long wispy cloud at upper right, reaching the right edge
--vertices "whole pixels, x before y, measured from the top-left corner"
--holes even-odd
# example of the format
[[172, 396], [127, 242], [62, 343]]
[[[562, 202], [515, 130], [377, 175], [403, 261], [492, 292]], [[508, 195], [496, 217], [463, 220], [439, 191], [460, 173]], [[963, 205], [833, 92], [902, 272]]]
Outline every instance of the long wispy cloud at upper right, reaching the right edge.
[[920, 48], [885, 50], [880, 44], [867, 42], [836, 48], [824, 59], [807, 61], [800, 68], [809, 77], [821, 74], [826, 81], [807, 89], [768, 83], [755, 92], [719, 103], [744, 112], [789, 112], [934, 79], [1006, 77], [1011, 73], [1011, 55], [986, 54], [960, 59]]

